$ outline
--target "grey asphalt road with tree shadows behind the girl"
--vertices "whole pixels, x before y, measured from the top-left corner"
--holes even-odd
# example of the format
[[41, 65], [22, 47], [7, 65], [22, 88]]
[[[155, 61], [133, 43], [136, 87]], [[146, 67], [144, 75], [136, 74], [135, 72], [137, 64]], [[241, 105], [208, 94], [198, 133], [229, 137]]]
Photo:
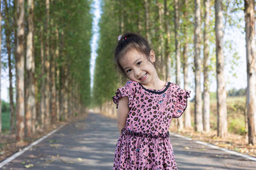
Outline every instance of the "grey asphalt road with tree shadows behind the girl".
[[[2, 169], [112, 169], [116, 120], [88, 113], [33, 146]], [[256, 169], [256, 162], [170, 136], [179, 169]], [[33, 166], [32, 166], [33, 165]]]

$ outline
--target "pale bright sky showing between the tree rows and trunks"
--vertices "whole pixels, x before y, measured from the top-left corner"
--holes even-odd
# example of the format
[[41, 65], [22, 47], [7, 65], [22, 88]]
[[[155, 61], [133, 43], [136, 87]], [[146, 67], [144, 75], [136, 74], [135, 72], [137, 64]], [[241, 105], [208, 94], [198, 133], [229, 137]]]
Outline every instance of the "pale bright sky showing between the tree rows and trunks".
[[[97, 41], [99, 40], [99, 19], [101, 15], [100, 9], [100, 0], [94, 0], [92, 3], [92, 10], [91, 13], [93, 14], [93, 36], [90, 41], [91, 43], [91, 60], [90, 60], [90, 75], [91, 75], [91, 89], [93, 87], [93, 72], [95, 69], [95, 59], [97, 58]], [[243, 11], [242, 14], [243, 15]], [[236, 16], [234, 16], [236, 17]], [[244, 23], [241, 22], [241, 27], [244, 27]], [[122, 32], [120, 32], [122, 34]], [[247, 85], [246, 79], [246, 51], [245, 51], [245, 33], [242, 33], [241, 30], [237, 29], [236, 27], [226, 27], [225, 34], [224, 34], [224, 41], [232, 40], [234, 43], [232, 44], [232, 48], [238, 53], [239, 59], [236, 60], [238, 63], [237, 66], [234, 66], [234, 69], [231, 69], [232, 65], [232, 54], [234, 52], [229, 52], [228, 50], [224, 51], [225, 55], [225, 80], [226, 80], [226, 90], [230, 89], [241, 89], [245, 88]], [[2, 43], [3, 44], [3, 43]], [[3, 48], [2, 48], [3, 49]], [[6, 59], [6, 56], [2, 55], [2, 59]], [[193, 62], [193, 60], [191, 60]], [[233, 76], [232, 74], [236, 74]], [[175, 73], [172, 73], [173, 75]], [[203, 76], [201, 77], [203, 78]], [[15, 79], [15, 77], [13, 77]], [[193, 96], [193, 88], [195, 87], [194, 83], [194, 75], [193, 71], [190, 68], [190, 76], [189, 76], [190, 87], [191, 87], [191, 96]], [[202, 80], [203, 81], [203, 80]], [[182, 82], [181, 82], [182, 83]], [[8, 99], [8, 85], [9, 85], [9, 78], [8, 78], [8, 69], [1, 68], [1, 99], [4, 101], [9, 101]], [[15, 85], [15, 81], [13, 80], [13, 85]], [[183, 87], [183, 85], [180, 85]], [[203, 89], [203, 87], [202, 87]], [[216, 79], [211, 78], [211, 85], [210, 91], [216, 91]]]

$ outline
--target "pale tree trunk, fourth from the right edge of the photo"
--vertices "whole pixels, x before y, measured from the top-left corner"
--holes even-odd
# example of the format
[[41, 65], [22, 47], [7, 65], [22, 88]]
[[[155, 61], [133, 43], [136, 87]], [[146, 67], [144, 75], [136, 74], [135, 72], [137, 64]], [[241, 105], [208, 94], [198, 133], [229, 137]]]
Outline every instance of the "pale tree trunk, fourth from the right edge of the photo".
[[195, 0], [195, 130], [203, 131], [200, 59], [200, 0]]

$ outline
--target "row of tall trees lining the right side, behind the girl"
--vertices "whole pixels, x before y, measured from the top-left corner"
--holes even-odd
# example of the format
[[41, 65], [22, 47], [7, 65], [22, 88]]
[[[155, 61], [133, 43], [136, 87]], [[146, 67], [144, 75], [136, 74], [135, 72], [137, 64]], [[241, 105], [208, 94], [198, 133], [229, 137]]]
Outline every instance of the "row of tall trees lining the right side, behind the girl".
[[[188, 72], [195, 73], [195, 130], [210, 131], [209, 76], [216, 75], [218, 136], [227, 136], [227, 104], [224, 65], [226, 25], [244, 20], [247, 59], [247, 116], [248, 143], [255, 144], [255, 1], [109, 1], [103, 0], [100, 20], [100, 40], [93, 86], [93, 103], [102, 106], [109, 103], [116, 88], [122, 86], [124, 78], [116, 73], [113, 54], [117, 37], [127, 31], [138, 32], [147, 38], [157, 54], [161, 78], [171, 80], [175, 70], [175, 82], [180, 84], [184, 76], [184, 89], [189, 89]], [[244, 18], [232, 18], [231, 14], [244, 10]], [[239, 15], [240, 16], [240, 15]], [[106, 43], [108, 42], [108, 43]], [[232, 48], [232, 46], [230, 47]], [[203, 59], [200, 54], [204, 51]], [[232, 48], [232, 50], [236, 50]], [[235, 57], [235, 56], [234, 56]], [[189, 62], [193, 60], [193, 64]], [[193, 65], [193, 66], [192, 66]], [[183, 70], [182, 70], [183, 69]], [[216, 69], [214, 71], [214, 69]], [[204, 92], [201, 92], [201, 71], [204, 73]], [[184, 123], [184, 124], [183, 124]], [[178, 122], [179, 128], [191, 126], [189, 107]]]

